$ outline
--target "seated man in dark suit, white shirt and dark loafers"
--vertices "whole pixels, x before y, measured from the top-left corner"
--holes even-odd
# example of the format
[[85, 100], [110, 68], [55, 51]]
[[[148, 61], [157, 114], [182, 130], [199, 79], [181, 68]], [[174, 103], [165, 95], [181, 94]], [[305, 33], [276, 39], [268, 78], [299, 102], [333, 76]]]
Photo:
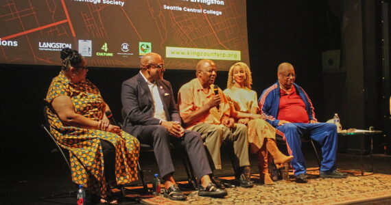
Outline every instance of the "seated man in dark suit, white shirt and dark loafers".
[[211, 182], [212, 174], [199, 133], [187, 131], [180, 125], [180, 116], [169, 81], [163, 79], [163, 58], [147, 53], [141, 58], [140, 72], [123, 81], [121, 100], [126, 117], [123, 131], [137, 137], [141, 143], [153, 146], [159, 172], [165, 180], [165, 197], [186, 200], [172, 174], [174, 165], [169, 152], [170, 141], [184, 146], [189, 154], [195, 176], [200, 179], [198, 195], [222, 197], [227, 192]]

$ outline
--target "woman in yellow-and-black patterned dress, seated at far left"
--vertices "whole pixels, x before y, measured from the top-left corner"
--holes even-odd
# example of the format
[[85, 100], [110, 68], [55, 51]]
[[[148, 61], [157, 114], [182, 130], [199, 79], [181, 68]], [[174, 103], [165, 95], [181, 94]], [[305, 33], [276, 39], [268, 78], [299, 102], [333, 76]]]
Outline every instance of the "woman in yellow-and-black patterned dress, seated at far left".
[[117, 204], [109, 182], [138, 180], [139, 141], [110, 124], [105, 114], [110, 108], [86, 79], [86, 59], [69, 48], [60, 54], [60, 74], [51, 81], [45, 98], [50, 131], [69, 150], [73, 182], [83, 184], [102, 203]]

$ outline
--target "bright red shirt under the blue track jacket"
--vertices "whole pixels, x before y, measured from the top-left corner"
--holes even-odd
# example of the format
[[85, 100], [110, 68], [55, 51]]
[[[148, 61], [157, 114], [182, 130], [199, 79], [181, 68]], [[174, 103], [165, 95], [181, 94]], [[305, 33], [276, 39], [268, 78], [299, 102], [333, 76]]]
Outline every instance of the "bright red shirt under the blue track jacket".
[[296, 93], [296, 88], [292, 86], [291, 93], [280, 89], [280, 105], [278, 120], [289, 122], [308, 123], [309, 118], [302, 98]]

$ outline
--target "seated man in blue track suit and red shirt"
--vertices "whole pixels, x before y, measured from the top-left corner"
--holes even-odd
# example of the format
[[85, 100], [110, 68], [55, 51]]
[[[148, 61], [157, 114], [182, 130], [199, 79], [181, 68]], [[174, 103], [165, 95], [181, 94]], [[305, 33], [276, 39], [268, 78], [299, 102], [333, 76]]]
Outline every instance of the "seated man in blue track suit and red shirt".
[[277, 77], [279, 81], [264, 90], [259, 98], [259, 111], [274, 127], [283, 132], [287, 141], [289, 154], [296, 182], [305, 183], [306, 165], [301, 151], [303, 135], [318, 141], [322, 146], [321, 178], [346, 178], [335, 167], [337, 156], [337, 127], [335, 124], [320, 123], [315, 118], [313, 105], [302, 87], [294, 83], [296, 74], [289, 63], [279, 65]]

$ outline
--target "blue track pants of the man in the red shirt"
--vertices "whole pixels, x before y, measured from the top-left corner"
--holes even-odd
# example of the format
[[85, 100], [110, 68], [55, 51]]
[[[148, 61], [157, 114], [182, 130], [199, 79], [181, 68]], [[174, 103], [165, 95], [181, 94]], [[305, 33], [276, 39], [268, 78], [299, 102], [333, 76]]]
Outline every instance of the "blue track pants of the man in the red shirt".
[[306, 165], [301, 151], [301, 137], [309, 135], [322, 146], [322, 163], [320, 172], [332, 172], [337, 158], [337, 126], [331, 123], [287, 123], [277, 126], [287, 141], [289, 154], [294, 156], [291, 164], [294, 174], [305, 174]]

